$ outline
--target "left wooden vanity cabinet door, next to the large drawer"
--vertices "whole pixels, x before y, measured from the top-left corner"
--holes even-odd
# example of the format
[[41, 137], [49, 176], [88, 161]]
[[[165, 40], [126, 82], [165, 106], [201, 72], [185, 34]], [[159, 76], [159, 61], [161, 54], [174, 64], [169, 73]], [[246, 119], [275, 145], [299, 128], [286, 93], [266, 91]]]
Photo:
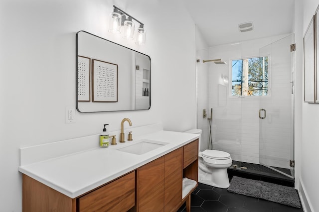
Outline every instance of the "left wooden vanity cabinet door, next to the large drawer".
[[138, 211], [164, 211], [164, 156], [138, 169]]

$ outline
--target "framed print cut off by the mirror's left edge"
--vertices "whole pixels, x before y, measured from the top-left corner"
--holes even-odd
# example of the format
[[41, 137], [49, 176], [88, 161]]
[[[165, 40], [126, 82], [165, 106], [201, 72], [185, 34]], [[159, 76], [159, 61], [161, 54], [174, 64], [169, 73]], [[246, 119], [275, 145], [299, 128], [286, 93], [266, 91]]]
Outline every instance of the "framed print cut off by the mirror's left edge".
[[78, 101], [90, 102], [91, 58], [78, 56]]

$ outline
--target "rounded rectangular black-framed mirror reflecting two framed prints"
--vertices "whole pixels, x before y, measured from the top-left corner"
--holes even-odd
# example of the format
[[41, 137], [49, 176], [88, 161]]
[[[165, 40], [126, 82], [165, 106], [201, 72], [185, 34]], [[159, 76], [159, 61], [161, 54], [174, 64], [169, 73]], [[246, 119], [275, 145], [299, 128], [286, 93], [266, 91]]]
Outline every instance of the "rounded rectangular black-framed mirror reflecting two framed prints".
[[85, 31], [76, 34], [79, 112], [151, 107], [151, 58]]

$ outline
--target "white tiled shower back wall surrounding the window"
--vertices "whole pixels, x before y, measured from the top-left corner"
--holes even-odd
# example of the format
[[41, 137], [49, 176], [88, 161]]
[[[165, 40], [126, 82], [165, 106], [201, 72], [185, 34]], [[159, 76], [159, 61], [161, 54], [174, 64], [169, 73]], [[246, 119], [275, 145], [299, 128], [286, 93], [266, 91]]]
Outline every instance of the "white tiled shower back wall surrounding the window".
[[[232, 59], [258, 56], [260, 48], [285, 36], [287, 35], [247, 41], [239, 45], [211, 47], [209, 58], [222, 58], [231, 64]], [[282, 45], [288, 44], [280, 43], [279, 47]], [[221, 75], [230, 76], [231, 66], [210, 64], [209, 105], [214, 108], [213, 149], [229, 152], [233, 160], [258, 164], [261, 156], [265, 160], [264, 163], [288, 168], [292, 117], [291, 111], [286, 107], [291, 104], [291, 73], [287, 71], [287, 67], [279, 63], [279, 60], [287, 58], [283, 58], [280, 51], [274, 51], [274, 46], [266, 46], [262, 50], [263, 53], [272, 50], [272, 93], [271, 97], [263, 100], [258, 97], [229, 97], [230, 86], [226, 85], [227, 101], [225, 106], [221, 106], [218, 103], [219, 96], [222, 95], [218, 92], [219, 79]], [[266, 109], [267, 119], [259, 118], [261, 108]], [[261, 145], [260, 139], [265, 140]]]

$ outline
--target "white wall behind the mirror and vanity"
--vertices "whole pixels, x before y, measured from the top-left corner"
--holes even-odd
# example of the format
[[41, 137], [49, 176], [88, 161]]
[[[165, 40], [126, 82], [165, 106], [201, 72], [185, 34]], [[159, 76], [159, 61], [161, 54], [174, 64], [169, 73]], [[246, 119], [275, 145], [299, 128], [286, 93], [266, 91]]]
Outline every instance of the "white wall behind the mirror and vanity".
[[[115, 4], [145, 24], [145, 46], [107, 32]], [[18, 148], [163, 122], [166, 130], [195, 127], [195, 26], [181, 0], [1, 0], [0, 211], [21, 211]], [[75, 113], [75, 34], [104, 37], [151, 56], [152, 107], [145, 111]], [[125, 127], [128, 127], [126, 125]], [[97, 141], [98, 145], [98, 141]]]

